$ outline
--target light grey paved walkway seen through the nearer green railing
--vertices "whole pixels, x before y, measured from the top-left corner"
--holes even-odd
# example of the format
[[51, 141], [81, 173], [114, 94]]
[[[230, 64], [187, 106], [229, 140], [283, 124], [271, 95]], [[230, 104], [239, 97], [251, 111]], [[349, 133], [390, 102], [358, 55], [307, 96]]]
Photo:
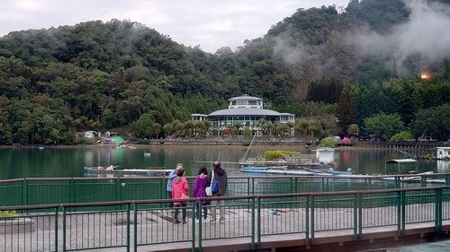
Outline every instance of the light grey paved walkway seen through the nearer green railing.
[[[185, 224], [175, 224], [173, 213], [166, 210], [139, 211], [136, 220], [131, 212], [130, 232], [127, 230], [126, 212], [67, 213], [66, 246], [67, 250], [86, 248], [95, 251], [95, 248], [111, 247], [107, 250], [125, 251], [125, 248], [113, 247], [126, 246], [127, 235], [130, 234], [131, 251], [135, 239], [139, 251], [154, 251], [191, 248], [192, 240], [195, 240], [195, 246], [199, 246], [200, 237], [202, 246], [206, 248], [235, 244], [248, 249], [252, 236], [257, 235], [258, 228], [262, 243], [289, 239], [304, 243], [307, 230], [306, 210], [293, 205], [292, 202], [278, 203], [276, 208], [266, 205], [266, 208], [261, 209], [259, 225], [257, 213], [252, 213], [251, 208], [238, 204], [227, 206], [225, 223], [194, 223], [190, 209], [187, 211]], [[314, 227], [314, 239], [332, 240], [333, 237], [343, 236], [351, 239], [355, 227], [354, 211], [354, 208], [316, 208], [313, 219], [312, 213], [309, 213], [309, 223], [312, 227], [313, 222]], [[396, 207], [366, 208], [362, 213], [363, 234], [396, 233]], [[435, 225], [434, 204], [410, 204], [406, 207], [406, 213], [407, 230], [432, 228]], [[442, 215], [444, 219], [450, 220], [450, 203], [443, 205]], [[62, 250], [64, 223], [61, 214], [58, 214], [58, 238], [55, 234], [54, 214], [30, 214], [26, 218], [32, 222], [23, 224], [22, 228], [13, 228], [14, 225], [8, 226], [7, 222], [0, 221], [0, 251], [50, 251], [54, 250], [56, 240], [58, 250]], [[208, 216], [207, 221], [209, 220], [211, 216]], [[255, 220], [255, 225], [252, 220]], [[450, 225], [450, 222], [443, 224]], [[310, 237], [311, 235], [310, 230]]]

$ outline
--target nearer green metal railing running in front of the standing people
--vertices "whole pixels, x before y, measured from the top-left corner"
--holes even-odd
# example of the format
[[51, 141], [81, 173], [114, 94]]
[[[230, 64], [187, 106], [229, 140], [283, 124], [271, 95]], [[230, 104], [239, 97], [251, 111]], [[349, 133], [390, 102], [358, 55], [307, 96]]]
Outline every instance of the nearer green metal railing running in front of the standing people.
[[[450, 220], [450, 187], [209, 199], [225, 201], [225, 222], [209, 222], [211, 210], [218, 210], [211, 205], [205, 206], [207, 222], [196, 222], [193, 202], [201, 200], [196, 198], [182, 200], [187, 204], [185, 223], [174, 223], [174, 213], [166, 207], [173, 200], [0, 207], [0, 211], [19, 213], [0, 219], [0, 250], [137, 251], [140, 247], [155, 250], [174, 246], [201, 250], [211, 242], [226, 244], [228, 240], [257, 249], [268, 239], [283, 240], [286, 235], [314, 244], [318, 234], [330, 235], [329, 231], [348, 234], [355, 241], [374, 228], [395, 230], [402, 236], [420, 223], [439, 232], [443, 221]], [[179, 209], [181, 220], [183, 207]]]

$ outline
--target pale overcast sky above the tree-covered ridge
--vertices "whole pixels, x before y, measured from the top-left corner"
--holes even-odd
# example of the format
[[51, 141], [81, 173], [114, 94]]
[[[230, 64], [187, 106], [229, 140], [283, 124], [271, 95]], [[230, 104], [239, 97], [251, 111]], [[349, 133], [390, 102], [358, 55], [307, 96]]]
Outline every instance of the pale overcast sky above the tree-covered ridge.
[[0, 0], [0, 36], [92, 20], [140, 22], [178, 43], [215, 52], [257, 39], [299, 8], [348, 0]]

